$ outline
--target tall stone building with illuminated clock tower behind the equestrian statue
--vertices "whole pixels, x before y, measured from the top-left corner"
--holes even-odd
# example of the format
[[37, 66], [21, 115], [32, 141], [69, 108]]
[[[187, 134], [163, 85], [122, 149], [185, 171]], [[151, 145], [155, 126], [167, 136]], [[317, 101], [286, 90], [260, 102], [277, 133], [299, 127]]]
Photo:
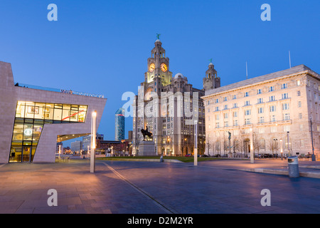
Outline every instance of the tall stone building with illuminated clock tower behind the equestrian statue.
[[[206, 128], [201, 96], [204, 95], [204, 89], [193, 88], [181, 73], [173, 76], [161, 41], [158, 39], [154, 44], [151, 57], [147, 59], [144, 82], [133, 103], [132, 152], [139, 155], [139, 144], [143, 140], [141, 130], [148, 128], [153, 134], [154, 155], [192, 154], [194, 121], [197, 120], [198, 154], [203, 154]], [[203, 86], [206, 89], [220, 86], [220, 78], [212, 63], [203, 79]]]

